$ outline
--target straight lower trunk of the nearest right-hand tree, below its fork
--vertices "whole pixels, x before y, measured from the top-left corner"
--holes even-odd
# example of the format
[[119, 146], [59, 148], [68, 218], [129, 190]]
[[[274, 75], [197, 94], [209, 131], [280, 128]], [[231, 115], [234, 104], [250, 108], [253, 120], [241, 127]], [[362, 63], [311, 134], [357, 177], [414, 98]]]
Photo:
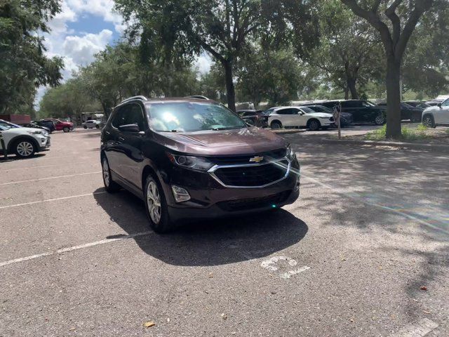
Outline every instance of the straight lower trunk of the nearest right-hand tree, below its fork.
[[400, 138], [401, 133], [401, 60], [387, 58], [387, 137]]

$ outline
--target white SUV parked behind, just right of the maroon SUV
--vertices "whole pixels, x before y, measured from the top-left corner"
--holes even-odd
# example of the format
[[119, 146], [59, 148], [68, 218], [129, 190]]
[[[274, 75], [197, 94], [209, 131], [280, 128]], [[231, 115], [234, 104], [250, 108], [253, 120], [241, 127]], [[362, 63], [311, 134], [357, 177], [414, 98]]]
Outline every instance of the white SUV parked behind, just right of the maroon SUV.
[[299, 126], [316, 131], [319, 128], [330, 127], [333, 122], [332, 114], [314, 112], [309, 107], [277, 107], [268, 117], [268, 125], [271, 128]]

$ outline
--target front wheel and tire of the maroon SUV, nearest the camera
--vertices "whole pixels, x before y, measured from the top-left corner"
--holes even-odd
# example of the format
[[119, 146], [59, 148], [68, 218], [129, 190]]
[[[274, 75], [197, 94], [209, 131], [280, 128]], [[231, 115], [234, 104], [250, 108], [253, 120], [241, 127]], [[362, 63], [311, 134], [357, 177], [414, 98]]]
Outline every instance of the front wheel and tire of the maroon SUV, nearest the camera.
[[[156, 233], [166, 233], [173, 229], [168, 218], [168, 207], [165, 194], [159, 180], [151, 174], [145, 181], [145, 211], [150, 227]], [[159, 204], [159, 206], [158, 206]]]

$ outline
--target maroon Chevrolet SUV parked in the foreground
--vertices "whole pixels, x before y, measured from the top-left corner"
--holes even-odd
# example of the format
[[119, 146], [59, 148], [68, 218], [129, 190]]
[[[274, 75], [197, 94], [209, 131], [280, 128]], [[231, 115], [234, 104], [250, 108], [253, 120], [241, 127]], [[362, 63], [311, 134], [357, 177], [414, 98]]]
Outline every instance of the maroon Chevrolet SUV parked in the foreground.
[[149, 223], [238, 216], [292, 204], [300, 165], [287, 141], [213, 100], [129, 98], [101, 136], [107, 192], [145, 200]]

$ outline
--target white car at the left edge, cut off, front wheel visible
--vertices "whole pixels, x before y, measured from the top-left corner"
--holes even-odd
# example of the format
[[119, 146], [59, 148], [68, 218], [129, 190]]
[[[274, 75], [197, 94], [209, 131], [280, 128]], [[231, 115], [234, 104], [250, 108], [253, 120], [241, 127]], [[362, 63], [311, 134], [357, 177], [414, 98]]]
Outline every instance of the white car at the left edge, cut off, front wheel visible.
[[[0, 119], [0, 133], [7, 153], [14, 153], [21, 158], [32, 157], [34, 153], [47, 150], [50, 147], [48, 131], [41, 128], [23, 128]], [[0, 153], [4, 154], [1, 142]]]

